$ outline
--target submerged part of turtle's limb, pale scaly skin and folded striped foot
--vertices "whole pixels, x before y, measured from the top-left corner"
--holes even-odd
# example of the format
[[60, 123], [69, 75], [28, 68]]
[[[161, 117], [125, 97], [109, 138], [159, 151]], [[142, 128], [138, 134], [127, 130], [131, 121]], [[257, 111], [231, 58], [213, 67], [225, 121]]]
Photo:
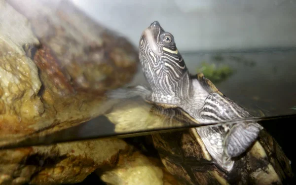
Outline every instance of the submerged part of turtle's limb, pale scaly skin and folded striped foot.
[[258, 123], [233, 121], [195, 129], [213, 159], [229, 172], [234, 157], [240, 156], [252, 146], [261, 128]]

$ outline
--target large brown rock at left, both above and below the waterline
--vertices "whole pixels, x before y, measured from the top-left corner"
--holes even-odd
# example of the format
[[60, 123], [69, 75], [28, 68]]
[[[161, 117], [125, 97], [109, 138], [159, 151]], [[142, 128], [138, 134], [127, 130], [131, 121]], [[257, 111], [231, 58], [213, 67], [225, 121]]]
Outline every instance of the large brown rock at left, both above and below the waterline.
[[[0, 0], [0, 12], [0, 147], [103, 114], [104, 93], [136, 72], [135, 48], [68, 1]], [[128, 150], [118, 139], [1, 149], [0, 184], [81, 182]]]

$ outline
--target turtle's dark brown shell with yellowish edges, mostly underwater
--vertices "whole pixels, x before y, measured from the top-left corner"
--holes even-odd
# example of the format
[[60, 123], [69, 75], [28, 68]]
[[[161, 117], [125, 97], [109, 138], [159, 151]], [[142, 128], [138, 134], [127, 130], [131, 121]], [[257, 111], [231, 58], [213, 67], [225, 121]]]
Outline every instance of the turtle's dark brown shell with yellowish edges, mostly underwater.
[[[196, 78], [208, 92], [224, 96], [203, 74]], [[168, 110], [169, 106], [156, 105]], [[175, 116], [190, 124], [196, 122], [180, 108], [182, 115]], [[161, 115], [160, 115], [161, 116]], [[290, 161], [274, 138], [261, 130], [257, 141], [245, 153], [237, 157], [231, 171], [225, 171], [213, 160], [195, 128], [152, 135], [155, 148], [167, 170], [186, 185], [281, 185], [293, 178]]]

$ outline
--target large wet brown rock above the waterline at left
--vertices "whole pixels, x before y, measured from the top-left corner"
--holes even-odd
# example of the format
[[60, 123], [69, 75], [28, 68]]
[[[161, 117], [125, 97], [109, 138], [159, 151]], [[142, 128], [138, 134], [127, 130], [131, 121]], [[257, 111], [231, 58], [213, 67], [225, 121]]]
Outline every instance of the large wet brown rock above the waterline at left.
[[0, 1], [0, 12], [0, 146], [103, 114], [104, 93], [136, 72], [131, 43], [69, 1]]

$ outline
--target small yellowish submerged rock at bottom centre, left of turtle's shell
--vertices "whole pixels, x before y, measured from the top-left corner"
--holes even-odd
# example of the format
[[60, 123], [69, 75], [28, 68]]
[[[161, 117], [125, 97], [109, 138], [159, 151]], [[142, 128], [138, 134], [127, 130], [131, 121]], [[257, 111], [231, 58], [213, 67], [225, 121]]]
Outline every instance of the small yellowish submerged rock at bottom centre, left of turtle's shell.
[[147, 157], [138, 151], [120, 155], [114, 168], [96, 173], [108, 185], [179, 185], [159, 158]]

